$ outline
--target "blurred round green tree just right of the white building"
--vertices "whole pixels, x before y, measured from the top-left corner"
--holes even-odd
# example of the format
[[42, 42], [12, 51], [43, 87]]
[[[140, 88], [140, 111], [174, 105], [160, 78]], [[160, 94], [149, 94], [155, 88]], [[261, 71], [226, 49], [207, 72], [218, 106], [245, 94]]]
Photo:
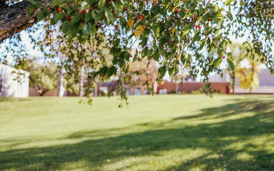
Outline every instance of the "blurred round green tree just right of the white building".
[[24, 69], [29, 72], [29, 85], [35, 88], [40, 96], [57, 87], [57, 66], [54, 63], [41, 66], [33, 59], [27, 60], [26, 65]]

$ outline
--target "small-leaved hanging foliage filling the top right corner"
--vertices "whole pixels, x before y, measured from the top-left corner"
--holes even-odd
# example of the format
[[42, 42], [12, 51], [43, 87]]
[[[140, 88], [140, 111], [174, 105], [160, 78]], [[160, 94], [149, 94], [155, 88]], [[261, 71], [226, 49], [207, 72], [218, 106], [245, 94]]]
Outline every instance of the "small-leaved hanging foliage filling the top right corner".
[[257, 61], [265, 64], [274, 73], [273, 49], [273, 0], [230, 0], [230, 7], [237, 11], [234, 20], [227, 25], [227, 33], [232, 32], [236, 38], [248, 34], [247, 44], [252, 49], [251, 57], [259, 55]]

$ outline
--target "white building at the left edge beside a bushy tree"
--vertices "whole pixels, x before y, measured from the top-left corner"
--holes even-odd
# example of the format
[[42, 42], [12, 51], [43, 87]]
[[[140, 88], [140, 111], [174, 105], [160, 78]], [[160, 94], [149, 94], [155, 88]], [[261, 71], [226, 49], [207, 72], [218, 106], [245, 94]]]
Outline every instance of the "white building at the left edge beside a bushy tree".
[[[15, 72], [15, 73], [14, 73]], [[18, 75], [16, 72], [22, 74]], [[0, 96], [27, 97], [29, 73], [0, 64]]]

